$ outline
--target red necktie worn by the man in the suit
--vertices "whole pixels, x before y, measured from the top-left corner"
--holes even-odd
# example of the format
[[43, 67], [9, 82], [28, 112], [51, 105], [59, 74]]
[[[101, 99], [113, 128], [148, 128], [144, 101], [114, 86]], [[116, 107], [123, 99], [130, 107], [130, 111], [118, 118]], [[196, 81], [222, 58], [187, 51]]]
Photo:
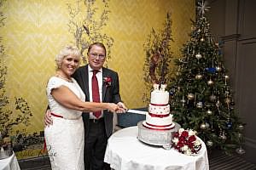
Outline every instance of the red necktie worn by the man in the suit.
[[[97, 72], [98, 71], [93, 71], [93, 75], [91, 78], [92, 101], [100, 103], [101, 99], [100, 99], [100, 94], [99, 94], [99, 85], [98, 85], [98, 80], [96, 77]], [[98, 118], [99, 116], [102, 115], [102, 111], [93, 112], [93, 115], [96, 116], [96, 118]]]

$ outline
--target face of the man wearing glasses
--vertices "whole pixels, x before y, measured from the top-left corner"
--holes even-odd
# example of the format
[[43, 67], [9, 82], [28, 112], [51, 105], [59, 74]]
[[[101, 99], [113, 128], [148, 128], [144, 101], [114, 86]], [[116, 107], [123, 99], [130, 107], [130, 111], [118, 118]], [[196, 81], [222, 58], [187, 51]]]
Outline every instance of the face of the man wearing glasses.
[[105, 62], [106, 52], [105, 49], [94, 45], [88, 52], [89, 65], [93, 70], [100, 70]]

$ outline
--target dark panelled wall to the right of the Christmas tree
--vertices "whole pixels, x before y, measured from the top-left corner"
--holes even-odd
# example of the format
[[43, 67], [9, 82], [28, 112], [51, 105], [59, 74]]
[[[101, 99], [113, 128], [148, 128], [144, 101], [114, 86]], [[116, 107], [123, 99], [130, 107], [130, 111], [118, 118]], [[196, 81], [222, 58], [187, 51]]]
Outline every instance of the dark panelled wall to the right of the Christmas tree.
[[212, 37], [224, 41], [224, 61], [235, 90], [236, 110], [247, 125], [243, 155], [256, 163], [256, 1], [208, 0]]

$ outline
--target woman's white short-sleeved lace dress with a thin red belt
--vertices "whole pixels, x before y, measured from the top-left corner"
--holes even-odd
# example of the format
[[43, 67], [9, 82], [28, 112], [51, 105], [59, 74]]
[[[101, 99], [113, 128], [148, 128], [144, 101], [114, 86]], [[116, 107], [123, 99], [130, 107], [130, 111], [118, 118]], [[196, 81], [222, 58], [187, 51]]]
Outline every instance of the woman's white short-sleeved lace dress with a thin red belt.
[[51, 168], [54, 170], [84, 170], [84, 122], [82, 112], [67, 109], [50, 94], [53, 88], [67, 86], [79, 99], [85, 99], [79, 84], [67, 82], [59, 77], [49, 79], [46, 91], [53, 125], [44, 128], [44, 136]]

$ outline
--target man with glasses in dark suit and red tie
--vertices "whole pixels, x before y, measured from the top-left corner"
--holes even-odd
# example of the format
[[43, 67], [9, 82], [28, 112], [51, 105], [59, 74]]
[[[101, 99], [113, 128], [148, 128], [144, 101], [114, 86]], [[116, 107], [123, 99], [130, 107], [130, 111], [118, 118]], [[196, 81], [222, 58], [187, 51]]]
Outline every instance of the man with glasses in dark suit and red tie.
[[[90, 44], [88, 48], [89, 65], [80, 66], [73, 74], [73, 77], [79, 83], [85, 94], [85, 101], [95, 101], [96, 91], [99, 94], [97, 98], [102, 102], [116, 103], [125, 110], [124, 103], [121, 102], [119, 94], [118, 73], [103, 67], [106, 60], [106, 48], [101, 42]], [[93, 88], [94, 83], [98, 87]], [[47, 114], [48, 115], [48, 114]], [[84, 120], [84, 167], [86, 170], [110, 169], [109, 165], [104, 163], [105, 150], [108, 144], [108, 137], [113, 132], [113, 113], [102, 111], [97, 113], [83, 115]], [[50, 119], [45, 116], [46, 124]]]

